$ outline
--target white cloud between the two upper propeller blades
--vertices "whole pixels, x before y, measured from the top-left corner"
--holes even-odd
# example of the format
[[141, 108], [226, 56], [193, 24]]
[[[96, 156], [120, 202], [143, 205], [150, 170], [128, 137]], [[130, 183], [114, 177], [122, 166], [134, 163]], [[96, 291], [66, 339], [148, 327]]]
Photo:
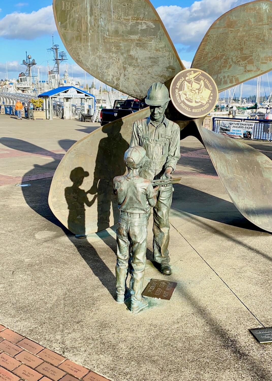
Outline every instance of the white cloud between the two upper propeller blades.
[[177, 5], [162, 5], [157, 8], [173, 43], [195, 50], [211, 24], [223, 13], [246, 3], [247, 0], [200, 0], [182, 8]]

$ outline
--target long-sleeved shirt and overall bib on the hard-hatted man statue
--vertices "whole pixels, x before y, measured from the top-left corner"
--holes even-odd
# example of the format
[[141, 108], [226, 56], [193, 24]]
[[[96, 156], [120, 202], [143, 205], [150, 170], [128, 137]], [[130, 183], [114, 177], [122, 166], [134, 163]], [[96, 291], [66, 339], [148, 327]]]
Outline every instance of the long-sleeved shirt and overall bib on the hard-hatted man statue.
[[[161, 176], [166, 168], [176, 169], [176, 163], [180, 158], [180, 128], [179, 126], [163, 118], [162, 123], [152, 122], [150, 117], [136, 120], [132, 127], [130, 147], [142, 146], [146, 149], [147, 157], [150, 160], [149, 176], [142, 177], [152, 179], [158, 174]], [[152, 166], [155, 166], [154, 168]], [[153, 175], [153, 176], [152, 176]]]

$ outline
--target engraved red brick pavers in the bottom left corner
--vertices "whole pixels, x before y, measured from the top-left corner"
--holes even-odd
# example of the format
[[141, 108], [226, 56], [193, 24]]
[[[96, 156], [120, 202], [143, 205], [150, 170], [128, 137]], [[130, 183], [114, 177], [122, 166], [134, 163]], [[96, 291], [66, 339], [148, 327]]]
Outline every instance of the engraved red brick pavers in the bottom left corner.
[[0, 381], [105, 381], [90, 369], [0, 325]]

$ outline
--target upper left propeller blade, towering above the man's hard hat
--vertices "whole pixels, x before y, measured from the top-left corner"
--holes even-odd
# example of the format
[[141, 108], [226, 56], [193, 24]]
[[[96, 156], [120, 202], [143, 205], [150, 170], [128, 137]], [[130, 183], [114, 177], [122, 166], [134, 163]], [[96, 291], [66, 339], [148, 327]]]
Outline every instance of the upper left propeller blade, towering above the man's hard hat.
[[56, 26], [70, 56], [86, 72], [142, 99], [184, 66], [149, 0], [53, 0]]

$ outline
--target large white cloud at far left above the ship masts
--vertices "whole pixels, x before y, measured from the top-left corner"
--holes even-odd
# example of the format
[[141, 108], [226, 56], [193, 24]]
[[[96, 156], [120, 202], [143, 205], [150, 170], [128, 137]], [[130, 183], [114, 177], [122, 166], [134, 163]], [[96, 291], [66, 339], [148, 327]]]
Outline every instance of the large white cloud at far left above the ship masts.
[[13, 12], [0, 19], [0, 37], [34, 40], [56, 30], [52, 6], [31, 13]]

